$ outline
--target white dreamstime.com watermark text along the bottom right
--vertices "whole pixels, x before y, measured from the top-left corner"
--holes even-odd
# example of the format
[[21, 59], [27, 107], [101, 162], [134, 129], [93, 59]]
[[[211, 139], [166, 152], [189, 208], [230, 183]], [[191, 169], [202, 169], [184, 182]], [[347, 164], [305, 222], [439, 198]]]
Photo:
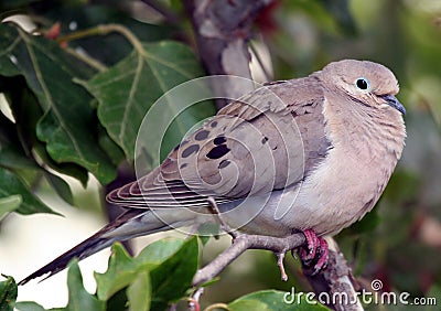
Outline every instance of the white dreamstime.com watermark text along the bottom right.
[[377, 304], [377, 305], [437, 305], [437, 298], [434, 297], [411, 297], [409, 292], [392, 292], [381, 291], [383, 281], [375, 279], [370, 282], [370, 289], [362, 289], [357, 292], [314, 292], [295, 291], [292, 287], [290, 292], [283, 296], [283, 302], [287, 304], [338, 304], [338, 305], [354, 305], [363, 304]]

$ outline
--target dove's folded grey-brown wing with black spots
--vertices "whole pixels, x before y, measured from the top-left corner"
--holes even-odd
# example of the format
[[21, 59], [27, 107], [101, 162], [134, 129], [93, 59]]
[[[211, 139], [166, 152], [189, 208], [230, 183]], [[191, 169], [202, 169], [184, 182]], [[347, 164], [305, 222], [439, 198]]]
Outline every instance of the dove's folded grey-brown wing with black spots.
[[128, 207], [206, 206], [268, 194], [304, 179], [330, 142], [313, 76], [243, 96], [185, 138], [150, 174], [111, 192]]

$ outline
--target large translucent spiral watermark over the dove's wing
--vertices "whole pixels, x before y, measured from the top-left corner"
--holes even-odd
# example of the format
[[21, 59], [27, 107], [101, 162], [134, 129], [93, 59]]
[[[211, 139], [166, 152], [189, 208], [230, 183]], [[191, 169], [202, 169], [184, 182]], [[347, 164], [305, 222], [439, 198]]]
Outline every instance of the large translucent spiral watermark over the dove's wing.
[[[187, 109], [202, 101], [237, 99], [219, 89], [213, 92], [212, 86], [216, 85], [243, 89], [245, 95], [227, 114], [193, 128], [185, 124], [192, 119], [185, 116]], [[286, 108], [271, 87], [236, 76], [201, 77], [166, 92], [144, 116], [136, 141], [135, 167], [144, 203], [174, 228], [194, 223], [195, 218], [202, 224], [213, 222], [213, 215], [207, 213], [207, 196], [219, 197], [222, 217], [232, 229], [247, 225], [269, 201], [271, 216], [282, 218], [294, 204], [299, 189], [291, 189], [290, 195], [280, 191], [278, 196], [272, 190], [286, 189], [304, 176], [302, 137], [292, 116], [279, 112]], [[184, 131], [180, 148], [169, 154], [157, 180], [142, 179], [161, 164], [170, 130]], [[180, 212], [171, 213], [173, 207]]]

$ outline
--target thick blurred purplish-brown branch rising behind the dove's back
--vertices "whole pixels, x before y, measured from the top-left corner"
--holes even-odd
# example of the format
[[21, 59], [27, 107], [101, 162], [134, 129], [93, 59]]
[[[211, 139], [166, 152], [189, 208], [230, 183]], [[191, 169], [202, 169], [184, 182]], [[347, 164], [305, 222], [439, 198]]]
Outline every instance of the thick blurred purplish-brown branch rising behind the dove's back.
[[[209, 75], [234, 75], [251, 78], [248, 40], [252, 23], [272, 0], [184, 0], [193, 23], [202, 62]], [[238, 98], [247, 90], [226, 82], [213, 86], [215, 94]], [[245, 93], [244, 93], [245, 92]], [[228, 100], [217, 99], [217, 108]]]

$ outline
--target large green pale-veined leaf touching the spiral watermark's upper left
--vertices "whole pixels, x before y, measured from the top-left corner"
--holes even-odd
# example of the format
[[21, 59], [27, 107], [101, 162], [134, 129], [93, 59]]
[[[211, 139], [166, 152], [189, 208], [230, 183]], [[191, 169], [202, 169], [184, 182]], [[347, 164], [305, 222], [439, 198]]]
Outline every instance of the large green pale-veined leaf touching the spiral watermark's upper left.
[[[144, 44], [143, 49], [143, 53], [133, 51], [107, 72], [83, 82], [99, 101], [99, 120], [130, 160], [135, 157], [139, 127], [151, 105], [172, 87], [203, 74], [196, 57], [183, 44], [160, 42]], [[174, 107], [168, 104], [164, 114], [175, 116]], [[213, 106], [202, 111], [205, 117], [214, 114]], [[201, 107], [190, 108], [186, 118], [191, 120], [174, 133], [179, 139], [189, 124], [201, 120]]]

